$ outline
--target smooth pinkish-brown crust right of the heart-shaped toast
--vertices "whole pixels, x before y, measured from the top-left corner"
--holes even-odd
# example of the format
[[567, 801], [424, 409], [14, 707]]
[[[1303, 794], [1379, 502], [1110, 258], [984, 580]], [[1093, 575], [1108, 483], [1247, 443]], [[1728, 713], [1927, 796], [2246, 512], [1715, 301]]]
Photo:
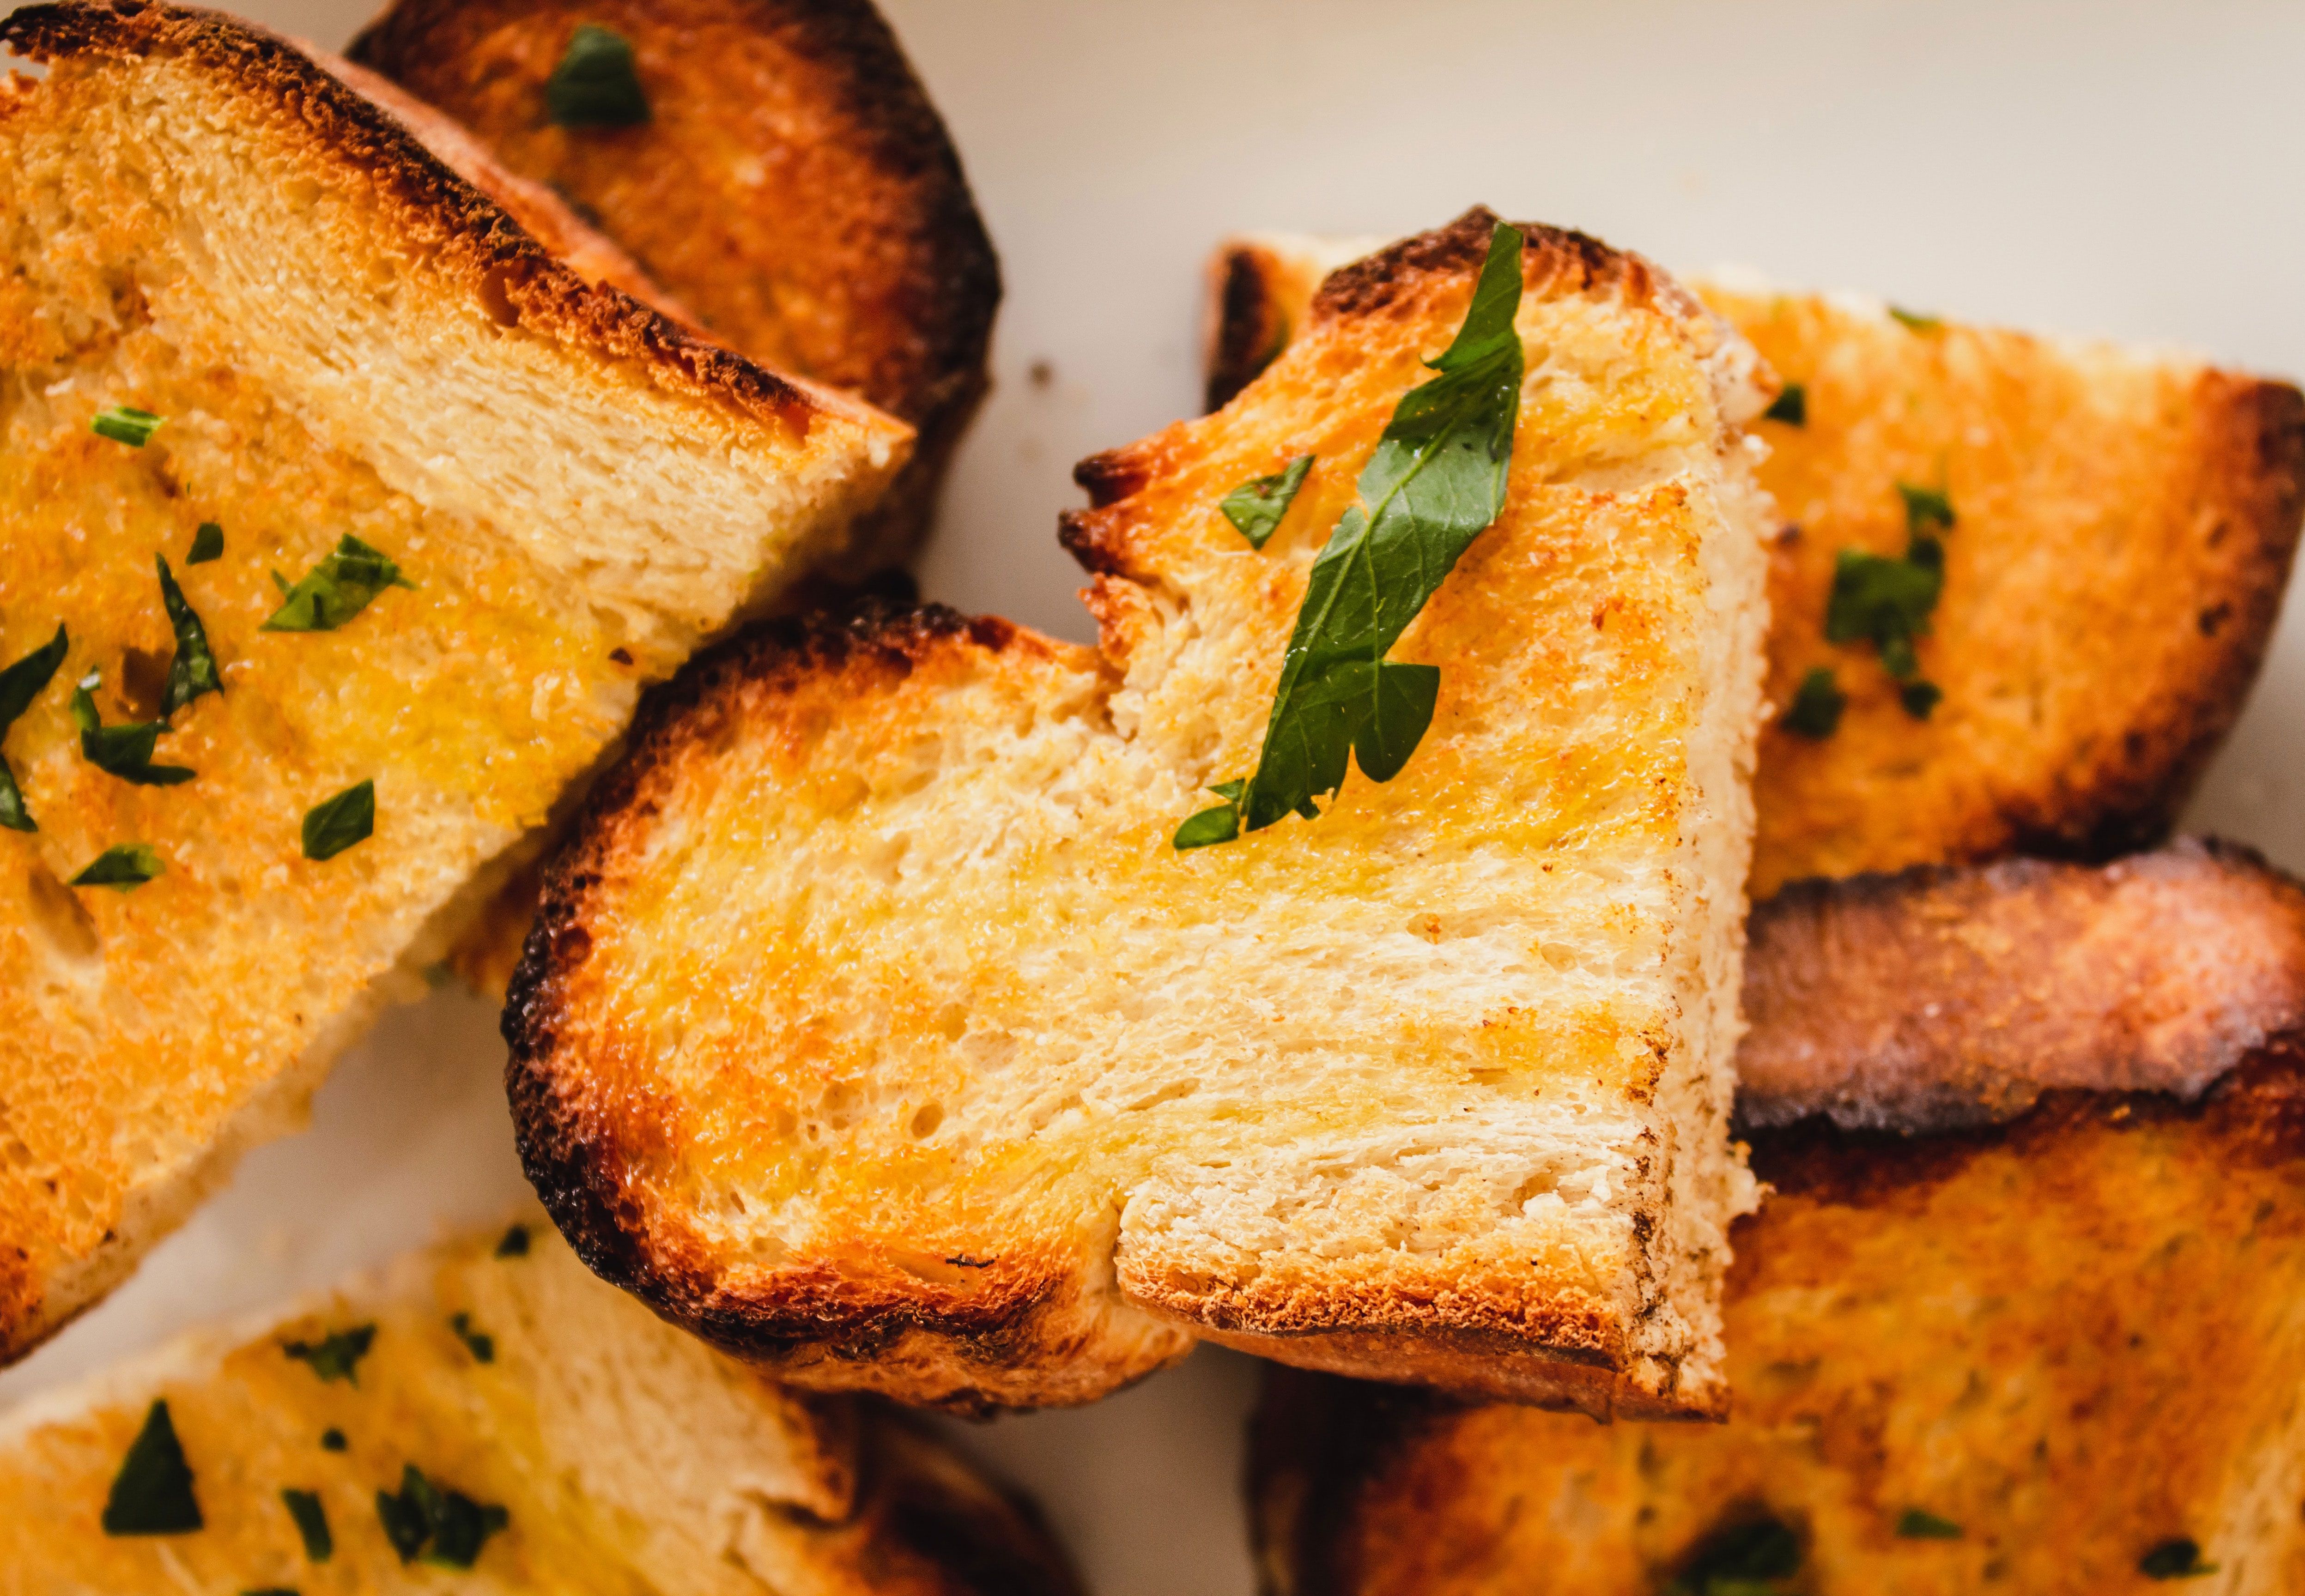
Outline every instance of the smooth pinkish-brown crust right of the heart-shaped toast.
[[1798, 882], [1754, 910], [1738, 1117], [1939, 1131], [2197, 1099], [2305, 1025], [2305, 887], [2227, 843]]

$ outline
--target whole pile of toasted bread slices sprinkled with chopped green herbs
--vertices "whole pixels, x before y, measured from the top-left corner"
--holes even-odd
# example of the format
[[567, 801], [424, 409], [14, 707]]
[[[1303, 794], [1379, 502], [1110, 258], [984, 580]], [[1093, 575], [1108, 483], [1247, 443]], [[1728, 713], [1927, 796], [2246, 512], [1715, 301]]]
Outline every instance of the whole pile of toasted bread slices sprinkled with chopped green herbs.
[[2305, 887], [2162, 845], [2293, 387], [1238, 240], [1074, 647], [827, 599], [998, 299], [867, 0], [0, 44], [0, 1359], [443, 956], [562, 1232], [7, 1416], [0, 1591], [1067, 1591], [881, 1403], [1199, 1340], [1275, 1596], [2305, 1582]]

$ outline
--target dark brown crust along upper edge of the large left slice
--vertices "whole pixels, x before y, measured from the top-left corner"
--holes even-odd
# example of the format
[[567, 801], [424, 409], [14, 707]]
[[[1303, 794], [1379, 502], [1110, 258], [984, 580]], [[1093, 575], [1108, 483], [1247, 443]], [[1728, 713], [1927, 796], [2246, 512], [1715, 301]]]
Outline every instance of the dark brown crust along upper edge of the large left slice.
[[28, 5], [0, 23], [0, 46], [32, 62], [177, 58], [300, 122], [311, 147], [357, 173], [401, 212], [410, 237], [475, 299], [532, 332], [641, 362], [668, 387], [728, 403], [807, 438], [818, 415], [869, 415], [685, 334], [615, 288], [592, 288], [452, 173], [408, 129], [290, 44], [217, 12], [148, 0]]

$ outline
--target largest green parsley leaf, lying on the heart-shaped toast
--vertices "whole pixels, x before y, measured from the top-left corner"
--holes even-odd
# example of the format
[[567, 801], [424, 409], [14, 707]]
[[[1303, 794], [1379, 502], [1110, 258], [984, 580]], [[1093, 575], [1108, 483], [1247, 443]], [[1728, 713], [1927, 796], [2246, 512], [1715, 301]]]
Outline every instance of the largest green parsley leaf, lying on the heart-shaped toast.
[[1222, 808], [1187, 820], [1178, 848], [1226, 841], [1217, 836], [1226, 813], [1235, 836], [1286, 815], [1316, 820], [1314, 797], [1344, 785], [1346, 755], [1369, 781], [1392, 781], [1424, 737], [1441, 670], [1390, 661], [1385, 649], [1505, 509], [1521, 417], [1519, 304], [1521, 235], [1498, 223], [1473, 309], [1431, 362], [1441, 375], [1395, 408], [1360, 472], [1362, 502], [1312, 562], [1256, 772]]

